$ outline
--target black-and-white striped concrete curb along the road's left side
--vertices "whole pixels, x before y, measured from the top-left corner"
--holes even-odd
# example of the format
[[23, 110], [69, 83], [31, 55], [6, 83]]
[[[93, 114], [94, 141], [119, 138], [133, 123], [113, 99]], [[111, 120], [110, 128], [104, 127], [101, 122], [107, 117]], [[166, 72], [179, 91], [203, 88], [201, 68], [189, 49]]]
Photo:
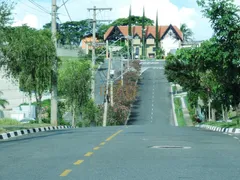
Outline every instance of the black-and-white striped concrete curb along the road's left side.
[[69, 128], [73, 128], [73, 127], [72, 126], [49, 126], [49, 127], [39, 127], [39, 128], [32, 128], [32, 129], [22, 129], [22, 130], [2, 133], [0, 134], [0, 139], [6, 140], [13, 137], [26, 135], [26, 134], [33, 134], [37, 132], [52, 131], [52, 130], [59, 130], [59, 129], [69, 129]]

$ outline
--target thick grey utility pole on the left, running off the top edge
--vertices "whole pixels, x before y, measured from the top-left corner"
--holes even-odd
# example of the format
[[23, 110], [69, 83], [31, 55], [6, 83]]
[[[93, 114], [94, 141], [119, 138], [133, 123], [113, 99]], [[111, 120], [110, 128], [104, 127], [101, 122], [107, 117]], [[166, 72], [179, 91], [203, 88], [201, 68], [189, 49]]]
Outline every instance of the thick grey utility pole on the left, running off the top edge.
[[[57, 4], [56, 0], [52, 0], [52, 40], [57, 50]], [[58, 112], [58, 97], [57, 97], [57, 71], [58, 71], [58, 62], [57, 58], [53, 60], [52, 65], [52, 92], [51, 92], [51, 124], [57, 126], [57, 112]]]

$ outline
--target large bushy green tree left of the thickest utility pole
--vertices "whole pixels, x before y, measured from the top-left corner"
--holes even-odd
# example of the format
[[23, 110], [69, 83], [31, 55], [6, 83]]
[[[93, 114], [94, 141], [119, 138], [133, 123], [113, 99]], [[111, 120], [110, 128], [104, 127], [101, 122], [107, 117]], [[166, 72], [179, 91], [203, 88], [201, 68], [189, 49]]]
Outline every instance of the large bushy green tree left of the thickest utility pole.
[[55, 47], [48, 30], [35, 30], [27, 26], [9, 27], [1, 47], [4, 58], [0, 67], [7, 77], [13, 77], [20, 89], [34, 93], [38, 120], [41, 123], [41, 99], [51, 88], [52, 61], [56, 58]]

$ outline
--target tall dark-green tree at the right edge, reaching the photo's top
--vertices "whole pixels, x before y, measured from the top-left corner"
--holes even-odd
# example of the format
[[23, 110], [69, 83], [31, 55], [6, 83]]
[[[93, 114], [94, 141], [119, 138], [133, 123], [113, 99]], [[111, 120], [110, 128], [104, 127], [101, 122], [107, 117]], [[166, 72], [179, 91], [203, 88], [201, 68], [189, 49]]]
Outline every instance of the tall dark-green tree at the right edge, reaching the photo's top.
[[[198, 0], [198, 5], [214, 30], [218, 58], [221, 66], [212, 67], [224, 94], [240, 116], [240, 15], [233, 0]], [[212, 61], [211, 61], [212, 62]]]

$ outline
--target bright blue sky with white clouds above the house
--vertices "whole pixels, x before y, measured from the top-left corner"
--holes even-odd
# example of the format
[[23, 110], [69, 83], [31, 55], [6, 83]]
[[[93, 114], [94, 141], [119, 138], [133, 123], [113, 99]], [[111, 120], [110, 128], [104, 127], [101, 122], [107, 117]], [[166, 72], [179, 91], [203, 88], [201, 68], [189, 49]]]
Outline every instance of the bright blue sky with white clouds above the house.
[[[44, 7], [43, 11], [30, 0], [17, 0], [13, 10], [13, 26], [27, 24], [30, 27], [40, 29], [42, 26], [51, 21], [51, 0], [31, 0]], [[61, 6], [63, 1], [56, 0], [57, 6]], [[240, 0], [235, 0], [240, 5]], [[159, 25], [176, 25], [186, 23], [194, 32], [195, 40], [209, 39], [213, 30], [208, 19], [204, 18], [201, 9], [198, 7], [196, 0], [68, 0], [66, 9], [62, 6], [58, 10], [59, 22], [79, 21], [92, 18], [93, 12], [87, 8], [112, 8], [112, 11], [99, 11], [98, 20], [116, 20], [117, 18], [127, 17], [129, 7], [132, 7], [132, 15], [142, 16], [143, 7], [145, 7], [146, 17], [156, 19], [158, 10]]]

